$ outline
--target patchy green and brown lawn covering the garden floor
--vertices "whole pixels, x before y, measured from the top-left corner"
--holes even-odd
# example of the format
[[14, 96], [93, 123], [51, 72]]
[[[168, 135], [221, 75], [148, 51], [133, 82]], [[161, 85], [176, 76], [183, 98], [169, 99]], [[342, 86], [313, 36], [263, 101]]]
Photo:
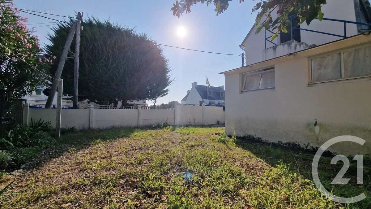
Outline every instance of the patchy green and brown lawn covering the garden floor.
[[[311, 181], [312, 153], [221, 140], [215, 133], [223, 131], [169, 126], [62, 135], [23, 172], [0, 176], [3, 185], [14, 180], [0, 207], [370, 208], [369, 197], [341, 205], [322, 196]], [[319, 167], [326, 187], [341, 168], [329, 167], [330, 160], [324, 157]], [[364, 187], [351, 182], [327, 189], [369, 196], [365, 172]]]

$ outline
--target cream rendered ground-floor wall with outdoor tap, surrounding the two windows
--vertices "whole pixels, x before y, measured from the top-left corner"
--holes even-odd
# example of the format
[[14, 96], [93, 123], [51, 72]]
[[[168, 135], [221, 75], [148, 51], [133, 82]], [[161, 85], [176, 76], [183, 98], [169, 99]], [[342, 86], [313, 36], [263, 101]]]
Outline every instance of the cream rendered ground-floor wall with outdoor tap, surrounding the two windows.
[[[254, 135], [273, 142], [297, 142], [319, 147], [339, 135], [365, 139], [365, 145], [340, 143], [331, 151], [352, 154], [371, 150], [371, 77], [319, 84], [310, 82], [308, 57], [355, 44], [371, 44], [357, 36], [298, 54], [240, 68], [225, 74], [226, 131], [232, 123], [238, 136]], [[241, 92], [241, 73], [275, 67], [275, 89]], [[319, 134], [313, 123], [318, 119]]]

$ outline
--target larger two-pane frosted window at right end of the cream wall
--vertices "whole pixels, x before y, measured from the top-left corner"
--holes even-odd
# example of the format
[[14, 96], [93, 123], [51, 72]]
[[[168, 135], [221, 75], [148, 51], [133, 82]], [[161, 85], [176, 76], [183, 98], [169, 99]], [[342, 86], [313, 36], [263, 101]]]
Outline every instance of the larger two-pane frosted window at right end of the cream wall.
[[[362, 46], [311, 60], [312, 82], [371, 75], [371, 46]], [[344, 63], [344, 64], [342, 64]]]

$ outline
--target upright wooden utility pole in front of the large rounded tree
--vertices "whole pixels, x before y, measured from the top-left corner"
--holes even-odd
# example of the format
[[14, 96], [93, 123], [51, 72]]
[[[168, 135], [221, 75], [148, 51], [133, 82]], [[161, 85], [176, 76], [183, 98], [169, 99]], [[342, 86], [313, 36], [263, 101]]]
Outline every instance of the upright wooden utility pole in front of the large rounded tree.
[[75, 39], [75, 71], [73, 73], [73, 108], [78, 108], [79, 96], [79, 54], [80, 54], [80, 35], [81, 35], [81, 21], [83, 13], [77, 13], [76, 21], [76, 39]]

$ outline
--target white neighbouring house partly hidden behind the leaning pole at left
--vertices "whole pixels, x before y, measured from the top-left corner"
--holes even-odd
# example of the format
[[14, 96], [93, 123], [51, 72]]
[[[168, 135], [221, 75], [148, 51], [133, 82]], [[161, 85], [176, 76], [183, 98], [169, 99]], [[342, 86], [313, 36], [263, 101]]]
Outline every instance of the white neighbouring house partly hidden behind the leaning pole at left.
[[[26, 95], [22, 97], [21, 99], [26, 100], [26, 102], [30, 105], [30, 107], [43, 107], [46, 104], [47, 97], [44, 94], [44, 90], [47, 87], [38, 87], [36, 91], [33, 91], [32, 94]], [[57, 94], [57, 93], [56, 93]], [[55, 94], [55, 97], [53, 99], [52, 107], [57, 105], [57, 95]], [[63, 95], [62, 97], [62, 105], [63, 106], [72, 106], [73, 101], [68, 94]]]

